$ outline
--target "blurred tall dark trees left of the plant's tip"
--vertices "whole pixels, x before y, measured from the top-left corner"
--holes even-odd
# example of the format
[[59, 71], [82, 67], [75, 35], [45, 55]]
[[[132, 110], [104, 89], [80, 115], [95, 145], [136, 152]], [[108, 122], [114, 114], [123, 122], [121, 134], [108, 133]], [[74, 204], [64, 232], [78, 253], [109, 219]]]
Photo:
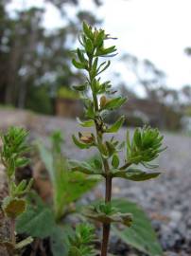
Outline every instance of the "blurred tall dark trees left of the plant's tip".
[[[77, 5], [79, 1], [49, 2], [63, 13], [69, 4]], [[0, 102], [48, 112], [47, 105], [45, 109], [42, 104], [38, 107], [37, 94], [41, 91], [42, 101], [51, 105], [50, 96], [56, 95], [60, 86], [69, 86], [79, 79], [79, 73], [71, 68], [70, 48], [76, 41], [79, 21], [86, 19], [94, 25], [96, 17], [79, 11], [74, 22], [65, 15], [65, 26], [47, 33], [42, 26], [44, 9], [24, 9], [10, 17], [7, 3], [0, 4]]]

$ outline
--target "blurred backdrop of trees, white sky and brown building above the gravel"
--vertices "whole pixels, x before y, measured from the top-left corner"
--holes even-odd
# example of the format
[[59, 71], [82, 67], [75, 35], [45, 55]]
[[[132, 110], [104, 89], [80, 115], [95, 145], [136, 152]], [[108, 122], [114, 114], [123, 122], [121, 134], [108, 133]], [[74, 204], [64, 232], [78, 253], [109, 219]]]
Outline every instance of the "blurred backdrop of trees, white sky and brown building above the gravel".
[[118, 38], [108, 78], [129, 98], [121, 110], [127, 124], [189, 133], [190, 7], [189, 0], [1, 0], [1, 108], [82, 115], [71, 50], [86, 20]]

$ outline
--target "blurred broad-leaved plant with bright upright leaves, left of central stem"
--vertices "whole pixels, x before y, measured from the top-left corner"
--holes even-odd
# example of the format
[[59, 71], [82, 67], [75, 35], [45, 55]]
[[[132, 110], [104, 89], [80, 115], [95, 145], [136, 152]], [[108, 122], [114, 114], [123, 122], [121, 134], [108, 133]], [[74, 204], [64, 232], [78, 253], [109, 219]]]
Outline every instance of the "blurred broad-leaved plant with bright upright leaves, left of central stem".
[[69, 250], [68, 234], [74, 234], [68, 228], [65, 218], [78, 212], [80, 206], [76, 207], [76, 201], [85, 192], [94, 188], [99, 179], [90, 178], [87, 174], [70, 172], [67, 159], [61, 153], [63, 138], [60, 131], [52, 134], [50, 144], [50, 147], [47, 147], [43, 141], [37, 142], [38, 151], [52, 185], [52, 202], [44, 203], [37, 193], [30, 192], [26, 212], [17, 220], [17, 231], [41, 241], [49, 238], [53, 255], [64, 256], [68, 255]]

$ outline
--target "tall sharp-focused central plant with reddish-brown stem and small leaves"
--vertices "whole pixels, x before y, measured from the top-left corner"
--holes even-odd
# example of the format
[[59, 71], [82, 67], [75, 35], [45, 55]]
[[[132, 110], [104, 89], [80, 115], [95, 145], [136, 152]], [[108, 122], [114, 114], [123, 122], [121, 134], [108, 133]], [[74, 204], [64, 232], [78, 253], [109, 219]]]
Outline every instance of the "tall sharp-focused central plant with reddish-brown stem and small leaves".
[[[81, 99], [85, 105], [85, 118], [78, 119], [82, 127], [95, 127], [96, 133], [90, 131], [78, 133], [78, 137], [73, 136], [74, 143], [79, 149], [90, 149], [96, 147], [100, 154], [100, 160], [93, 164], [86, 162], [71, 162], [74, 172], [84, 174], [100, 174], [105, 178], [105, 203], [86, 210], [86, 216], [102, 223], [103, 235], [101, 256], [108, 254], [109, 236], [111, 224], [121, 222], [126, 226], [131, 224], [131, 214], [120, 212], [113, 208], [112, 204], [112, 182], [114, 177], [121, 177], [134, 181], [143, 181], [157, 177], [160, 173], [142, 171], [141, 168], [134, 168], [133, 165], [142, 164], [147, 168], [154, 168], [150, 162], [154, 160], [162, 149], [163, 136], [157, 129], [144, 127], [136, 129], [133, 137], [127, 133], [126, 141], [120, 143], [114, 137], [105, 138], [105, 134], [117, 133], [123, 125], [125, 117], [117, 119], [112, 126], [108, 126], [104, 121], [108, 113], [120, 108], [126, 99], [115, 96], [111, 82], [102, 82], [99, 75], [111, 64], [110, 61], [101, 63], [101, 58], [113, 57], [116, 54], [115, 46], [105, 46], [105, 41], [113, 39], [106, 34], [103, 29], [90, 27], [83, 23], [82, 33], [79, 36], [81, 48], [75, 52], [78, 59], [73, 59], [72, 63], [78, 69], [87, 72], [85, 82], [74, 89], [80, 92]], [[91, 92], [92, 97], [90, 97]], [[127, 151], [125, 162], [121, 164], [119, 152], [126, 145]]]

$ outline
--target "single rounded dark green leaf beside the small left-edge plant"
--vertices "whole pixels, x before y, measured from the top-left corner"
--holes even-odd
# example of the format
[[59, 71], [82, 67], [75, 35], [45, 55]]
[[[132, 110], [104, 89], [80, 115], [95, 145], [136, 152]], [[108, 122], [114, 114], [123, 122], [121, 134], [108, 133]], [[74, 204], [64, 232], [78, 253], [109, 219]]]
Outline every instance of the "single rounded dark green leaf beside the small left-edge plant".
[[54, 229], [54, 214], [48, 206], [43, 204], [37, 194], [33, 199], [35, 199], [36, 205], [27, 205], [26, 211], [17, 219], [16, 230], [20, 234], [26, 233], [32, 237], [43, 239], [48, 237]]

